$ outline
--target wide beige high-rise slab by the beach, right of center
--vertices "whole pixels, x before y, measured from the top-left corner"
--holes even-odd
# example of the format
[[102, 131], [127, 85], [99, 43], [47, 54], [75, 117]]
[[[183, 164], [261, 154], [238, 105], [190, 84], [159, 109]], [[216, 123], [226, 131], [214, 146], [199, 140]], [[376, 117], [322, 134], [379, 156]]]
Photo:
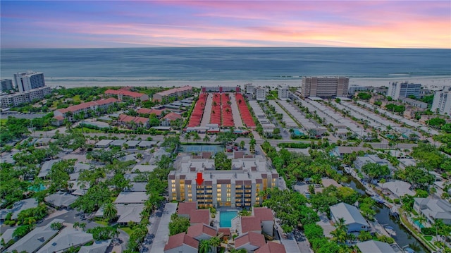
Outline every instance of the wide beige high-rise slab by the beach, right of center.
[[346, 97], [350, 78], [302, 77], [302, 97]]

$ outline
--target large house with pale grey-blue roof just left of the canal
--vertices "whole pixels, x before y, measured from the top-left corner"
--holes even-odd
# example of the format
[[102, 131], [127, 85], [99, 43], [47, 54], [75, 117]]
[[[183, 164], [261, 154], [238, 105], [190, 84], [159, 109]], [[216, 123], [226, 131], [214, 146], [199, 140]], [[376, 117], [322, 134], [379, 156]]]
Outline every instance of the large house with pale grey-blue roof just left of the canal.
[[340, 218], [345, 219], [347, 233], [370, 231], [371, 227], [366, 222], [359, 209], [346, 203], [338, 203], [329, 207], [330, 218], [336, 223]]

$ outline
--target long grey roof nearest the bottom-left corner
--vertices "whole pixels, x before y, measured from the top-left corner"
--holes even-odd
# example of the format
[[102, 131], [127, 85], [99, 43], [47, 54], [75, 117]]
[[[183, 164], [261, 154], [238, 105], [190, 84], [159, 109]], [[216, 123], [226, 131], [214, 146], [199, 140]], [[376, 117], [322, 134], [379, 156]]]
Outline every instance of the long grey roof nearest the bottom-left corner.
[[56, 222], [63, 223], [64, 220], [54, 219], [46, 226], [31, 230], [30, 233], [27, 233], [27, 235], [20, 238], [20, 240], [11, 245], [11, 247], [8, 247], [6, 251], [13, 252], [13, 250], [17, 250], [18, 252], [35, 252], [44, 244], [44, 242], [47, 242], [47, 240], [54, 237], [54, 235], [58, 233], [58, 230], [53, 230], [50, 227], [52, 223]]

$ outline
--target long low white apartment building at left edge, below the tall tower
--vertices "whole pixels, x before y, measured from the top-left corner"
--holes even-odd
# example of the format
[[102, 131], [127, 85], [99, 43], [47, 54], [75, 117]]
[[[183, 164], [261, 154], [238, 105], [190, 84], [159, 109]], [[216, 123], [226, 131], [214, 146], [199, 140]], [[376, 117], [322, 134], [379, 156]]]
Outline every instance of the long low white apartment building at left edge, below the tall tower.
[[30, 103], [34, 99], [44, 99], [47, 94], [51, 93], [50, 87], [40, 87], [28, 90], [22, 93], [15, 93], [0, 97], [1, 108], [5, 109], [11, 106], [18, 106], [23, 103]]

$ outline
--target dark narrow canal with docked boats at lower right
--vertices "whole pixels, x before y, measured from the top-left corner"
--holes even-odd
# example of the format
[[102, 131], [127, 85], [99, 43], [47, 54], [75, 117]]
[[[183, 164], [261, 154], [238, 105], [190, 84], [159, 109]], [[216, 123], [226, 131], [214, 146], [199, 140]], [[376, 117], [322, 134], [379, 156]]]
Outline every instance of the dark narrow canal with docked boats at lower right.
[[[355, 178], [352, 178], [351, 175], [348, 175], [344, 173], [345, 177], [347, 178], [347, 181], [343, 182], [346, 183], [347, 186], [352, 187], [352, 189], [357, 190], [360, 194], [366, 195], [365, 187], [359, 183]], [[393, 216], [390, 216], [390, 209], [388, 209], [387, 206], [384, 206], [383, 204], [376, 204], [376, 219], [378, 222], [383, 226], [391, 226], [396, 231], [396, 237], [394, 237], [395, 241], [397, 242], [400, 247], [410, 247], [411, 249], [414, 249], [416, 253], [428, 253], [428, 249], [421, 245], [421, 242], [416, 240], [415, 237], [413, 237], [409, 231], [402, 226], [400, 221], [397, 220], [397, 218], [394, 218]]]

